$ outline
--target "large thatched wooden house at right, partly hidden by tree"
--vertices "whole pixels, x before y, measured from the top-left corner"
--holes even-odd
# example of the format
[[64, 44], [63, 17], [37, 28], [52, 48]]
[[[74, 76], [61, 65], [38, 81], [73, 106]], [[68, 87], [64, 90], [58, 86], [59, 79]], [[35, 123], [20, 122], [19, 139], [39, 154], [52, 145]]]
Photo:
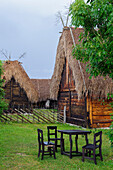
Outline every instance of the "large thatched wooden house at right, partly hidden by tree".
[[67, 122], [84, 127], [108, 127], [112, 122], [112, 109], [107, 94], [113, 93], [112, 79], [107, 76], [89, 79], [86, 64], [72, 56], [73, 43], [79, 43], [83, 31], [83, 28], [63, 29], [57, 47], [50, 98], [58, 100], [58, 110], [62, 115], [66, 106]]

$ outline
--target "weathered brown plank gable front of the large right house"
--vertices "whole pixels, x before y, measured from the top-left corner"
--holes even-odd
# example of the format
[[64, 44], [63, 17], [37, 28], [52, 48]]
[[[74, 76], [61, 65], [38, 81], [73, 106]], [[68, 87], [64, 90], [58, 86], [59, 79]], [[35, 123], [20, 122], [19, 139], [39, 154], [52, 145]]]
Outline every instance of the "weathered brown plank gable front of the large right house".
[[67, 122], [86, 125], [85, 99], [78, 100], [72, 71], [66, 60], [58, 94], [58, 111], [63, 115], [66, 106]]

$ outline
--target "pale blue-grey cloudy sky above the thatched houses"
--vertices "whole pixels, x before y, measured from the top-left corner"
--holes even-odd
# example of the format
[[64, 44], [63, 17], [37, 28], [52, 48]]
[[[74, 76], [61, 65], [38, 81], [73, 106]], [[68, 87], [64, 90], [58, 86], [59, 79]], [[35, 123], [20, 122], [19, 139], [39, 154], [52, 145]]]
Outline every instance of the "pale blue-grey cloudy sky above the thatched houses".
[[[62, 24], [72, 0], [0, 0], [0, 51], [22, 62], [30, 78], [50, 79]], [[64, 19], [65, 21], [65, 19]], [[0, 60], [6, 60], [0, 53]]]

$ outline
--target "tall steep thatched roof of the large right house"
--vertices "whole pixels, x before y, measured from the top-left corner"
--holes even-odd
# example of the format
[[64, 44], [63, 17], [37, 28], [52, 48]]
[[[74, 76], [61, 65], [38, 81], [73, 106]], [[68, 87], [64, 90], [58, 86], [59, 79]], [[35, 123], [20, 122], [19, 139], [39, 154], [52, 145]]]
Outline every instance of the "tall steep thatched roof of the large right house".
[[[79, 35], [80, 32], [83, 32], [83, 28], [72, 28], [72, 32], [74, 35], [75, 43], [79, 43]], [[85, 86], [83, 83], [83, 77], [81, 74], [81, 70], [78, 64], [78, 61], [73, 58], [72, 56], [72, 46], [73, 41], [71, 37], [71, 33], [69, 28], [64, 28], [62, 35], [59, 39], [58, 47], [57, 47], [57, 54], [56, 54], [56, 63], [54, 68], [54, 73], [51, 79], [51, 86], [50, 86], [50, 98], [57, 99], [59, 85], [61, 82], [61, 76], [63, 71], [63, 66], [65, 63], [65, 58], [67, 59], [69, 66], [72, 70], [74, 81], [75, 81], [75, 89], [78, 92], [78, 98], [82, 98], [83, 92], [85, 92]], [[89, 79], [89, 74], [86, 73], [85, 67], [86, 65], [80, 63], [83, 71], [83, 75], [85, 78], [85, 84], [87, 92], [89, 95], [94, 98], [107, 98], [108, 93], [113, 93], [113, 80], [106, 76], [106, 78], [102, 76], [98, 76], [96, 78]]]

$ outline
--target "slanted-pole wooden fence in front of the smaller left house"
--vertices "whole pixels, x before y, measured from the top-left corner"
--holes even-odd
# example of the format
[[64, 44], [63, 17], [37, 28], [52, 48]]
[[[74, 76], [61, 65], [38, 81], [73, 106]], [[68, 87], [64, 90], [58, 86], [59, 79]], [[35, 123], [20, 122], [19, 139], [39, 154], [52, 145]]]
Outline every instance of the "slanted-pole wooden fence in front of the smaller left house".
[[49, 109], [33, 109], [33, 112], [26, 109], [13, 109], [4, 112], [0, 116], [1, 122], [18, 122], [18, 123], [62, 123], [63, 116]]

